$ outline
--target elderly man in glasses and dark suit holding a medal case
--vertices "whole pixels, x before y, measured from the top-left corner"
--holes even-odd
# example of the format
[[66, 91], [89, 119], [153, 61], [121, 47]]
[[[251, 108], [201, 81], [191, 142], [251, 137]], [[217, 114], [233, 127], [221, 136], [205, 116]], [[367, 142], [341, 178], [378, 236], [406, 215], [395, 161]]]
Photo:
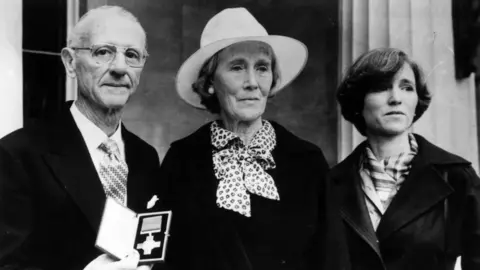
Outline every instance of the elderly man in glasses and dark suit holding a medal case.
[[154, 195], [158, 155], [120, 120], [146, 58], [145, 31], [123, 8], [75, 26], [62, 60], [78, 99], [0, 140], [0, 269], [137, 267], [138, 253], [115, 261], [95, 239], [107, 196], [140, 212]]

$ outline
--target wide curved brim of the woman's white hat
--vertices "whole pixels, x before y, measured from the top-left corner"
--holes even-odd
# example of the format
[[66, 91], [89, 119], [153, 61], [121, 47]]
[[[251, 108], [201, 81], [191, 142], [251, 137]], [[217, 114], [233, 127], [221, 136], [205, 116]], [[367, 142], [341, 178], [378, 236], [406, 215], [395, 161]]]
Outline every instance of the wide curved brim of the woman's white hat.
[[192, 84], [198, 79], [200, 69], [205, 61], [215, 53], [242, 41], [261, 41], [272, 47], [277, 59], [280, 78], [270, 95], [276, 94], [292, 82], [307, 62], [307, 47], [293, 38], [269, 35], [223, 39], [198, 49], [182, 64], [176, 77], [176, 89], [180, 98], [196, 108], [205, 109], [205, 106], [201, 104], [200, 96], [192, 89]]

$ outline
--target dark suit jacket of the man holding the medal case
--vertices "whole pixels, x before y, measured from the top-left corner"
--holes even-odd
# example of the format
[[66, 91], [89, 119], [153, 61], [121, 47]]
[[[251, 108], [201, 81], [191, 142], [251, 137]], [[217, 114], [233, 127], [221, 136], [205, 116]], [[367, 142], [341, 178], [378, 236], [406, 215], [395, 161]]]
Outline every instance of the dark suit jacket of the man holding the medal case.
[[[70, 105], [0, 140], [0, 269], [83, 269], [101, 254], [94, 244], [106, 197]], [[122, 136], [127, 206], [146, 211], [158, 155], [123, 126]]]

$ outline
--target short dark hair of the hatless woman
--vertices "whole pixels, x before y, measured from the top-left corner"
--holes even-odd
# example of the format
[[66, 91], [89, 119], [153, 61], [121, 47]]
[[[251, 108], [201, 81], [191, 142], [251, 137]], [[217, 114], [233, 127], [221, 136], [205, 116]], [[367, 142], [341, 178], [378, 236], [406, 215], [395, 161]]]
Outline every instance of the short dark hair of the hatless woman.
[[379, 48], [362, 54], [347, 70], [337, 91], [345, 120], [355, 125], [365, 136], [366, 124], [362, 115], [365, 95], [373, 89], [391, 83], [395, 75], [405, 63], [412, 68], [418, 95], [413, 122], [417, 121], [427, 110], [432, 100], [421, 67], [411, 60], [402, 50], [395, 48]]

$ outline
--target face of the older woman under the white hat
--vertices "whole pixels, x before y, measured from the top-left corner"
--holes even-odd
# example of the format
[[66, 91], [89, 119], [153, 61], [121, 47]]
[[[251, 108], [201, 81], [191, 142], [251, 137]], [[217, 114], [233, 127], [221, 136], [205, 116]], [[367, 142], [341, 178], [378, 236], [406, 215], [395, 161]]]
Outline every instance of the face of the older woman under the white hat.
[[272, 55], [264, 43], [233, 44], [218, 55], [213, 88], [221, 115], [231, 121], [261, 119], [272, 88]]

